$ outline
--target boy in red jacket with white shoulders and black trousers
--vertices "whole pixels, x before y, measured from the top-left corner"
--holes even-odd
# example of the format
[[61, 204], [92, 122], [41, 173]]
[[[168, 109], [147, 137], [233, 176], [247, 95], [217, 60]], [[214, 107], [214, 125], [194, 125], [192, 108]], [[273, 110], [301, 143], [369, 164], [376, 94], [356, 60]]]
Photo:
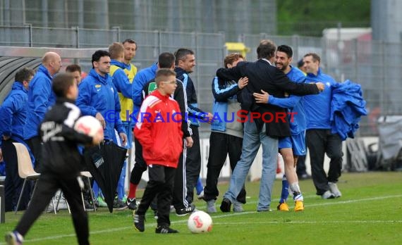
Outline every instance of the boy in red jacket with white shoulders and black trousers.
[[178, 103], [171, 98], [177, 87], [176, 73], [159, 69], [155, 81], [158, 88], [142, 102], [134, 129], [150, 175], [140, 206], [134, 214], [134, 227], [144, 232], [145, 213], [158, 195], [158, 225], [155, 232], [178, 233], [169, 227], [173, 180], [178, 157], [183, 150], [182, 115]]

